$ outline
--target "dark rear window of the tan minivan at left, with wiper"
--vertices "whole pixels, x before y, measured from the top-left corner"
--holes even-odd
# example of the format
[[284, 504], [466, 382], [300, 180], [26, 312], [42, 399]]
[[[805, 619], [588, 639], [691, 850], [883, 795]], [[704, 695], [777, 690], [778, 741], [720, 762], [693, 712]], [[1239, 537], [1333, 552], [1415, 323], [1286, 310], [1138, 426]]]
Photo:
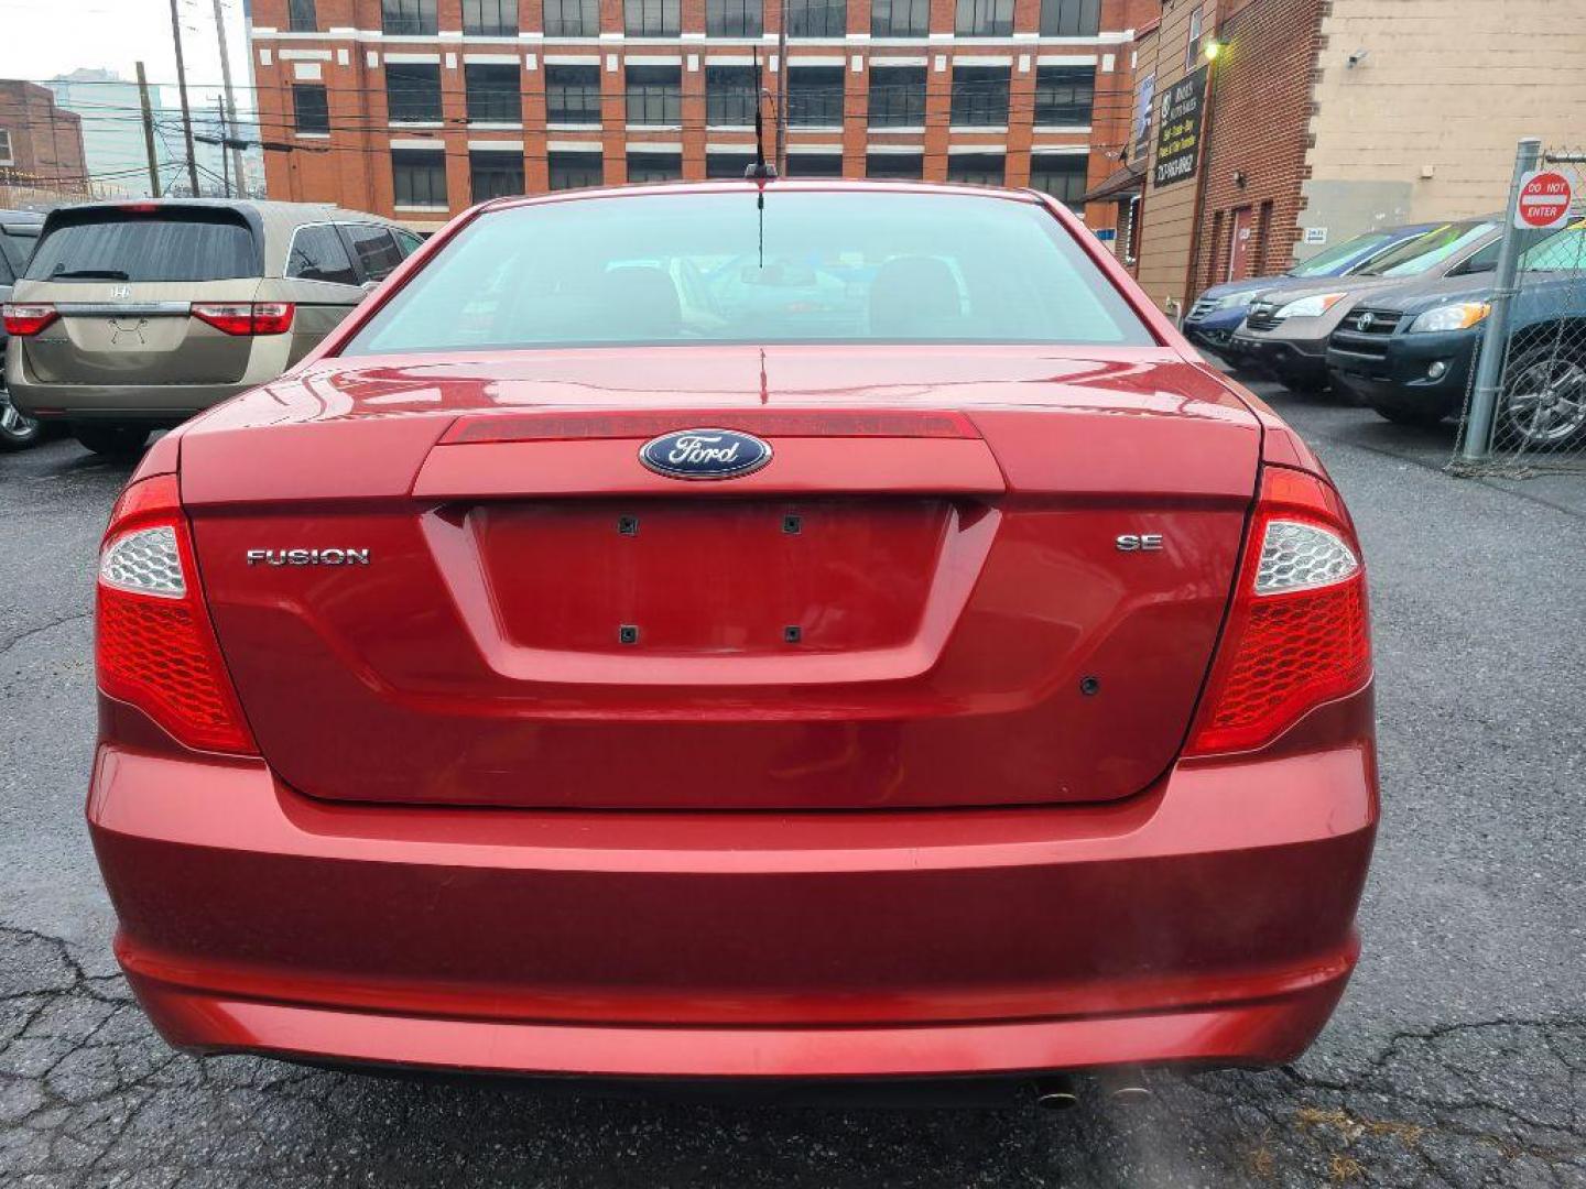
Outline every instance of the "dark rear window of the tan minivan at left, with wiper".
[[254, 233], [230, 211], [94, 212], [49, 228], [32, 281], [225, 281], [259, 276]]

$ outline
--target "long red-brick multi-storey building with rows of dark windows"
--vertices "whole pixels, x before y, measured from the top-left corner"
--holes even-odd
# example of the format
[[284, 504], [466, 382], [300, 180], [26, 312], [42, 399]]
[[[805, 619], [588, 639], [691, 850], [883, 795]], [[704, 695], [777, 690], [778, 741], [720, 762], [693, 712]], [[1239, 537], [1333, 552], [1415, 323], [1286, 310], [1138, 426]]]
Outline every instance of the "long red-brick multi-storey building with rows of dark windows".
[[[1078, 205], [1128, 133], [1158, 0], [790, 0], [788, 174], [1034, 185]], [[416, 228], [484, 198], [741, 178], [779, 0], [255, 0], [273, 198]], [[766, 146], [772, 144], [769, 105]], [[1110, 227], [1110, 205], [1091, 211]]]

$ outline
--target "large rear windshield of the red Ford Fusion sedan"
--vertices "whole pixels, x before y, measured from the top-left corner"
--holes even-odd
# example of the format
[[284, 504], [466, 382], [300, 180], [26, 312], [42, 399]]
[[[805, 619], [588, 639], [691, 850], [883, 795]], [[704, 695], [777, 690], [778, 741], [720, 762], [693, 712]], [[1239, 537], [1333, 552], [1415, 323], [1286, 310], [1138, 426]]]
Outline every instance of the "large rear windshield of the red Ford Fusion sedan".
[[488, 212], [343, 354], [628, 342], [1153, 339], [1032, 203], [745, 185]]

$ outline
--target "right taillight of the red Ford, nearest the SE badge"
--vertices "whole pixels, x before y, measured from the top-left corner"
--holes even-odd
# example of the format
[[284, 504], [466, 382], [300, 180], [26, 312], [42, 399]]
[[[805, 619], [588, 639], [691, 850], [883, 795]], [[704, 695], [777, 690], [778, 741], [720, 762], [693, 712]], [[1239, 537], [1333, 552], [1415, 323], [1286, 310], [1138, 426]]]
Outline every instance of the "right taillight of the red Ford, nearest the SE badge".
[[1343, 503], [1316, 476], [1266, 468], [1186, 755], [1261, 747], [1370, 672], [1366, 569]]

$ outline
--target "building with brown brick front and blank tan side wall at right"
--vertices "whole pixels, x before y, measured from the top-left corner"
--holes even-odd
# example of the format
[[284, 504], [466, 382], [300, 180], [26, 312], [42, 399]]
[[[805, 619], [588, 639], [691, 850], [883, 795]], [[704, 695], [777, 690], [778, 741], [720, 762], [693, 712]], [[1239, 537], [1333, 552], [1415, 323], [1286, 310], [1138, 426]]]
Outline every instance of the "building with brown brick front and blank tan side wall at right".
[[[1375, 227], [1489, 214], [1521, 136], [1583, 144], [1586, 29], [1556, 13], [1554, 0], [1161, 0], [1124, 63], [1128, 173], [1091, 197], [1137, 216], [1124, 257], [1169, 314]], [[1159, 176], [1163, 109], [1197, 71], [1191, 168]]]

